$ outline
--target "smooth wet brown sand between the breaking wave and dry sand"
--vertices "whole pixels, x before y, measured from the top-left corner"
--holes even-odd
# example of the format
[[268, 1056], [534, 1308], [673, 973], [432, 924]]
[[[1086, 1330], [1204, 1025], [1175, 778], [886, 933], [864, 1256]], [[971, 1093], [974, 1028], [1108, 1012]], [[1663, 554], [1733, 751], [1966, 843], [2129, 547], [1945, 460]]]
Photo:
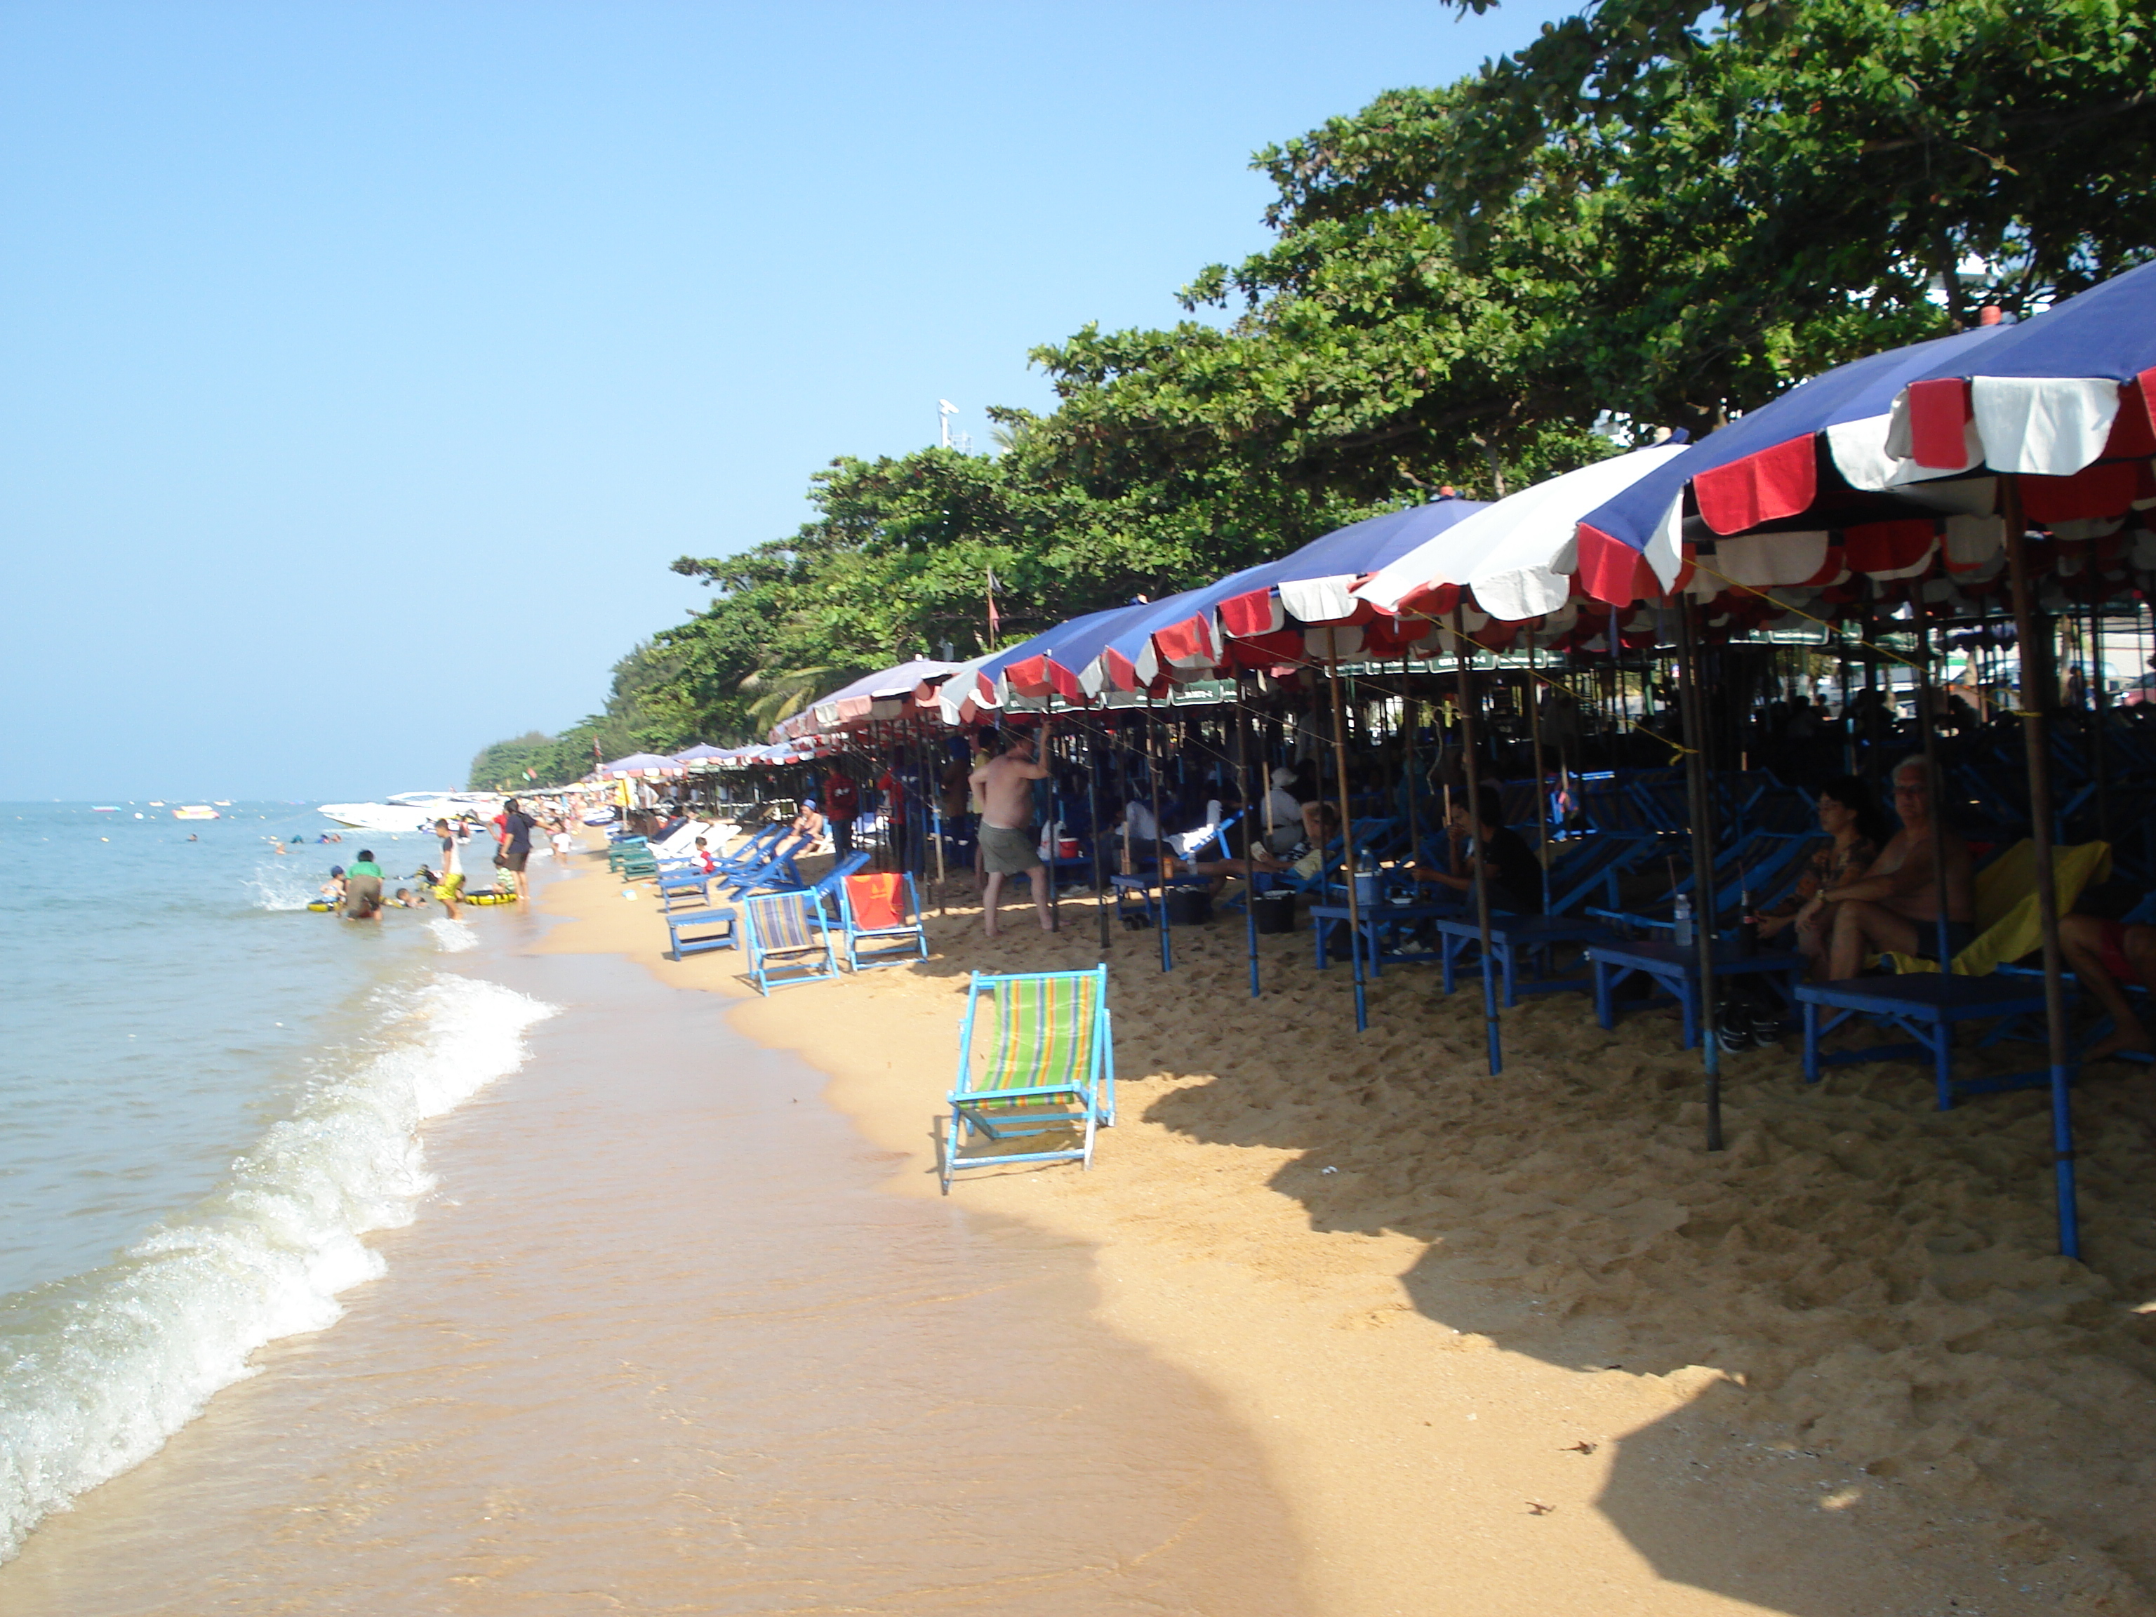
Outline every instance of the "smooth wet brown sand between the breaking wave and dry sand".
[[1259, 1445], [1084, 1242], [884, 1194], [727, 1000], [479, 925], [455, 966], [565, 1011], [429, 1130], [388, 1276], [47, 1518], [9, 1617], [1307, 1611]]

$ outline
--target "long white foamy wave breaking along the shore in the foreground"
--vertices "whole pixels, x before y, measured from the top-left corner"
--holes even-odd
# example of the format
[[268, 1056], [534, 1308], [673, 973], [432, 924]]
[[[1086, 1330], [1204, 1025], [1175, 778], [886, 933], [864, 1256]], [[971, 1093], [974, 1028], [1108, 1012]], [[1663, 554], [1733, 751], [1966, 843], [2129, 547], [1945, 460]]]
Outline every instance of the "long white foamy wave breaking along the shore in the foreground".
[[431, 1188], [418, 1125], [524, 1061], [552, 1005], [446, 972], [384, 990], [388, 1035], [263, 1134], [224, 1184], [119, 1261], [0, 1304], [0, 1559], [138, 1466], [267, 1341], [321, 1330], [382, 1274], [360, 1235]]

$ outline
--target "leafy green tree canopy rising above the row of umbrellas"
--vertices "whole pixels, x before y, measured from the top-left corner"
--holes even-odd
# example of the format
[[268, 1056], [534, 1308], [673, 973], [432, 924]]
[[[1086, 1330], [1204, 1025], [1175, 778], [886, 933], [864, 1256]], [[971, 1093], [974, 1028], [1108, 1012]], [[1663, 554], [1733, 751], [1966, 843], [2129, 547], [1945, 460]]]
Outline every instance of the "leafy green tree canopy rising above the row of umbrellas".
[[1602, 0], [1388, 91], [1255, 155], [1274, 241], [1188, 319], [1037, 347], [1059, 405], [994, 412], [1003, 453], [839, 459], [796, 535], [677, 561], [718, 599], [584, 757], [972, 655], [990, 578], [1009, 638], [2042, 308], [2156, 246], [2152, 86], [2156, 0]]

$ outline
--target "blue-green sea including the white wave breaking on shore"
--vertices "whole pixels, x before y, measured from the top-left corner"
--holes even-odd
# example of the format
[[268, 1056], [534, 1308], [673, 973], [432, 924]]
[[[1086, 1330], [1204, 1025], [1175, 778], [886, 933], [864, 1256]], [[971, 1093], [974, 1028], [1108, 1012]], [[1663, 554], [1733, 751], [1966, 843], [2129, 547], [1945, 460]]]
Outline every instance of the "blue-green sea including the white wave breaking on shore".
[[[310, 912], [362, 845], [278, 856], [313, 808], [116, 808], [0, 804], [0, 1559], [332, 1324], [429, 1188], [418, 1125], [550, 1015], [442, 970], [472, 921]], [[388, 888], [433, 852], [364, 843]]]

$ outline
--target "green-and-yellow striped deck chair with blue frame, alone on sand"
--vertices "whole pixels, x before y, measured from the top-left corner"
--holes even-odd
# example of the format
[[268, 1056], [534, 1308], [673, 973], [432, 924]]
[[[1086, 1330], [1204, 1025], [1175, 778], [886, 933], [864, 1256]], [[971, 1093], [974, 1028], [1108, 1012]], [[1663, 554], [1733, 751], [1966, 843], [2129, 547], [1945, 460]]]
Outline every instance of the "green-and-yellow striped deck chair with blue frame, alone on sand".
[[[975, 1056], [981, 1000], [996, 1026], [985, 1056]], [[1108, 968], [1082, 972], [972, 972], [957, 1028], [957, 1084], [944, 1134], [942, 1188], [959, 1169], [1007, 1162], [1082, 1162], [1093, 1166], [1093, 1136], [1115, 1123], [1115, 1035], [1108, 1024]], [[966, 1141], [1076, 1136], [1041, 1151], [966, 1156]]]

